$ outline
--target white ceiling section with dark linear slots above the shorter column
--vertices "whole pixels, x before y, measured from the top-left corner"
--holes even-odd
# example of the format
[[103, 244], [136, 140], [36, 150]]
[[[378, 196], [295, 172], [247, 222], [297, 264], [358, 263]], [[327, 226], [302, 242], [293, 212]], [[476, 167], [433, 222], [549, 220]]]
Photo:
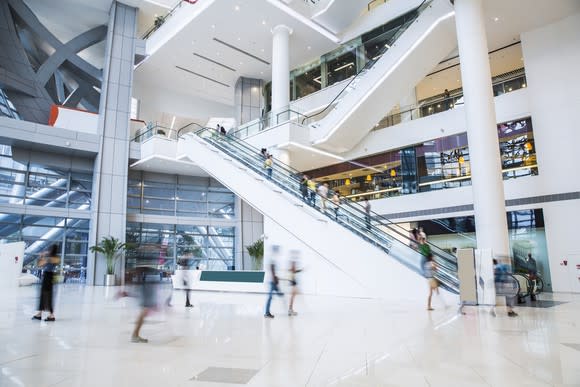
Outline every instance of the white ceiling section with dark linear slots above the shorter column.
[[[193, 10], [195, 5], [189, 7]], [[269, 1], [217, 0], [140, 65], [135, 71], [135, 80], [169, 91], [186, 91], [233, 104], [234, 86], [239, 77], [270, 79], [271, 65], [264, 62], [272, 61], [271, 29], [278, 24], [285, 24], [293, 30], [290, 37], [291, 68], [337, 47], [336, 43]], [[214, 38], [264, 62], [227, 47]], [[180, 70], [176, 66], [224, 85]]]

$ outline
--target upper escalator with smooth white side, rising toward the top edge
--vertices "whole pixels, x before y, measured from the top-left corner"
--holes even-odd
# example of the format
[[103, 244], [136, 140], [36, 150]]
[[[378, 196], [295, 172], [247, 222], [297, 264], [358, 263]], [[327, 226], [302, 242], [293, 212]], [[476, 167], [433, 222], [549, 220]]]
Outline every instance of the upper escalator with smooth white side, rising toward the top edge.
[[450, 1], [423, 1], [326, 108], [303, 120], [309, 123], [311, 144], [336, 153], [350, 150], [456, 42]]

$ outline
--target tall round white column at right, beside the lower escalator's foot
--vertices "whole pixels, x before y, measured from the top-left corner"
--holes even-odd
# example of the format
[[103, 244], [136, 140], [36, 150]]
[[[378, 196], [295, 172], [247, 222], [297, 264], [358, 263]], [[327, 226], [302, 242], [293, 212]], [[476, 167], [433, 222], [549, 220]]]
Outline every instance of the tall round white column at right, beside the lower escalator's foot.
[[497, 122], [483, 0], [455, 0], [477, 247], [509, 254]]

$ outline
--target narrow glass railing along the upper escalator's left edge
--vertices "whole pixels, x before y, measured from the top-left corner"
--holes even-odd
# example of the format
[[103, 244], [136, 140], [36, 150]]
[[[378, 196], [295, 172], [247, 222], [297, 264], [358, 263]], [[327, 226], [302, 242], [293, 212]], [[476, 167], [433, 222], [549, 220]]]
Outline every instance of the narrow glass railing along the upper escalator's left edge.
[[325, 114], [328, 109], [340, 103], [340, 101], [346, 95], [348, 95], [352, 90], [356, 89], [356, 86], [360, 82], [362, 77], [364, 77], [365, 74], [375, 65], [375, 63], [377, 63], [377, 61], [391, 48], [391, 46], [395, 44], [397, 39], [399, 39], [399, 37], [407, 30], [407, 28], [415, 20], [417, 20], [417, 18], [421, 15], [423, 10], [425, 10], [429, 6], [429, 4], [431, 4], [431, 0], [423, 0], [423, 2], [416, 8], [415, 12], [410, 14], [409, 19], [406, 20], [396, 29], [392, 37], [384, 44], [379, 53], [375, 55], [373, 58], [369, 59], [369, 61], [364, 65], [364, 67], [350, 79], [350, 81], [344, 86], [344, 88], [336, 95], [336, 97], [334, 97], [332, 101], [330, 101], [328, 105], [326, 105], [326, 107], [324, 107], [324, 109], [309, 116], [306, 116], [303, 119], [302, 124], [306, 124], [307, 121], [311, 121], [315, 117], [317, 119], [320, 119], [321, 117], [323, 117], [323, 114]]

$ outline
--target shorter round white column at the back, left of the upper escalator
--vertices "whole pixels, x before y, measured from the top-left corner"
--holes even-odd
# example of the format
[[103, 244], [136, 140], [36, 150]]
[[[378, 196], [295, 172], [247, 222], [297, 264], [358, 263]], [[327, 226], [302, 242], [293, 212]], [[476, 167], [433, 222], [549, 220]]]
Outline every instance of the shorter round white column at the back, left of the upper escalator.
[[272, 112], [285, 110], [290, 104], [290, 34], [283, 24], [272, 28]]

